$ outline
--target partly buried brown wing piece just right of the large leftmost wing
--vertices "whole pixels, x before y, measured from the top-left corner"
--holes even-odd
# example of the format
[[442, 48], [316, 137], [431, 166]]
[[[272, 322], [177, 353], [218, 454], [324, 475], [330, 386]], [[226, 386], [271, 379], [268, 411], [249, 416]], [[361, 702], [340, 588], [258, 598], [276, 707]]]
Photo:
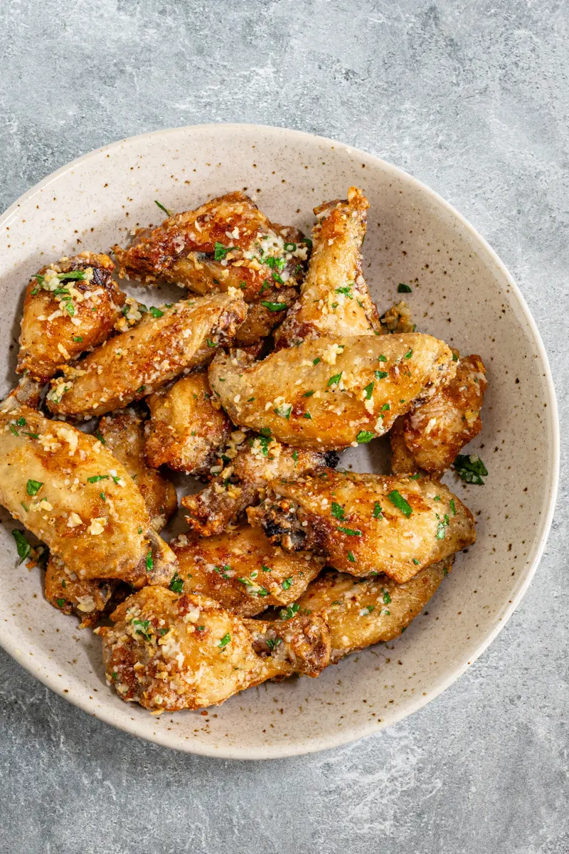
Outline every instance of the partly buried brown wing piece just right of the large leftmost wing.
[[132, 407], [111, 412], [101, 418], [99, 435], [140, 489], [152, 527], [160, 533], [177, 511], [177, 494], [173, 483], [147, 465], [142, 414]]

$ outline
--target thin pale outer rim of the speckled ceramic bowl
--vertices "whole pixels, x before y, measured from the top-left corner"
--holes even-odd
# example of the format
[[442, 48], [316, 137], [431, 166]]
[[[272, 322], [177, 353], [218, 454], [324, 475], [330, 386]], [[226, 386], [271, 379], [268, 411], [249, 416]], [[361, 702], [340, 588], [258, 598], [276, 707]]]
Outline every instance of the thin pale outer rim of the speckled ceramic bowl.
[[[117, 720], [114, 717], [114, 711], [112, 706], [108, 706], [105, 704], [100, 705], [99, 708], [94, 709], [93, 706], [89, 704], [87, 700], [82, 699], [81, 697], [75, 697], [71, 693], [64, 693], [64, 688], [61, 685], [60, 681], [55, 680], [54, 677], [50, 676], [50, 674], [44, 670], [40, 672], [36, 672], [32, 669], [31, 663], [28, 658], [26, 658], [24, 652], [16, 649], [14, 646], [10, 646], [9, 643], [9, 633], [6, 633], [6, 639], [3, 638], [3, 629], [0, 628], [0, 645], [3, 646], [3, 649], [9, 653], [12, 658], [15, 658], [15, 661], [18, 664], [21, 664], [22, 667], [25, 668], [32, 676], [35, 676], [38, 681], [41, 681], [45, 686], [49, 687], [55, 693], [58, 693], [64, 699], [67, 699], [68, 702], [73, 705], [78, 706], [78, 708], [90, 714], [92, 717], [96, 717], [101, 721], [104, 721], [108, 724], [111, 724], [113, 727], [119, 728], [120, 730], [134, 735], [137, 738], [141, 738], [143, 740], [148, 740], [159, 744], [160, 746], [169, 747], [173, 750], [178, 750], [186, 753], [193, 753], [200, 756], [208, 756], [208, 757], [218, 757], [220, 759], [241, 759], [241, 760], [258, 760], [258, 759], [275, 759], [275, 758], [286, 758], [293, 756], [301, 756], [307, 753], [319, 752], [323, 750], [329, 750], [334, 747], [343, 746], [345, 744], [350, 744], [353, 741], [363, 739], [368, 737], [369, 735], [379, 733], [381, 729], [386, 727], [391, 727], [395, 723], [400, 722], [405, 717], [409, 717], [414, 714], [415, 711], [418, 711], [423, 706], [430, 703], [433, 699], [438, 697], [440, 693], [443, 693], [447, 687], [456, 681], [462, 676], [462, 674], [467, 670], [470, 664], [479, 658], [483, 652], [485, 652], [486, 648], [491, 645], [492, 641], [496, 639], [496, 636], [502, 631], [503, 627], [508, 623], [509, 618], [512, 616], [520, 601], [525, 595], [527, 588], [529, 587], [533, 576], [536, 573], [537, 565], [543, 556], [543, 550], [545, 548], [545, 544], [547, 542], [549, 536], [549, 530], [551, 529], [551, 524], [554, 516], [555, 503], [557, 498], [557, 492], [559, 487], [559, 476], [560, 476], [560, 424], [559, 424], [559, 412], [557, 407], [557, 400], [555, 396], [554, 389], [554, 381], [551, 373], [551, 368], [549, 366], [549, 358], [547, 351], [543, 345], [542, 337], [537, 329], [537, 324], [531, 315], [530, 308], [525, 301], [524, 295], [521, 293], [518, 284], [516, 284], [514, 278], [511, 273], [508, 271], [508, 268], [503, 264], [502, 260], [498, 257], [494, 249], [491, 248], [491, 245], [479, 234], [473, 225], [471, 225], [468, 220], [458, 211], [450, 202], [447, 202], [442, 196], [429, 187], [427, 184], [423, 184], [418, 178], [415, 178], [413, 175], [405, 172], [404, 169], [400, 167], [394, 166], [392, 163], [383, 160], [377, 155], [371, 154], [369, 151], [365, 151], [363, 149], [358, 149], [357, 147], [349, 144], [343, 143], [338, 140], [331, 139], [329, 137], [322, 137], [317, 134], [293, 130], [292, 128], [282, 127], [282, 126], [273, 126], [273, 125], [258, 125], [258, 124], [249, 124], [247, 122], [242, 123], [230, 123], [230, 122], [213, 122], [213, 123], [204, 123], [198, 125], [183, 125], [178, 127], [171, 128], [163, 128], [160, 130], [145, 132], [136, 134], [132, 137], [123, 137], [119, 140], [116, 140], [113, 143], [108, 143], [107, 145], [103, 145], [100, 148], [93, 149], [91, 151], [86, 152], [84, 155], [80, 155], [76, 157], [73, 161], [69, 161], [64, 166], [56, 169], [55, 172], [49, 173], [45, 178], [42, 178], [38, 181], [37, 184], [34, 184], [29, 190], [26, 190], [21, 196], [19, 196], [15, 202], [13, 202], [9, 208], [7, 208], [2, 214], [0, 214], [0, 227], [9, 224], [9, 221], [18, 213], [19, 208], [32, 200], [34, 196], [36, 196], [39, 192], [49, 187], [49, 184], [53, 184], [59, 178], [64, 176], [66, 173], [73, 171], [74, 167], [77, 167], [79, 164], [83, 164], [85, 161], [90, 161], [91, 159], [96, 158], [97, 156], [102, 155], [103, 153], [107, 153], [109, 151], [113, 151], [113, 149], [120, 149], [121, 146], [125, 145], [125, 143], [135, 143], [136, 141], [146, 141], [152, 139], [153, 137], [167, 137], [173, 136], [175, 134], [189, 132], [196, 133], [199, 132], [201, 134], [219, 134], [222, 133], [224, 135], [235, 135], [235, 134], [254, 134], [255, 132], [263, 132], [265, 135], [273, 134], [275, 137], [292, 137], [297, 140], [304, 140], [306, 143], [314, 145], [314, 143], [319, 143], [328, 149], [343, 149], [349, 154], [362, 155], [364, 158], [367, 158], [369, 161], [373, 162], [374, 165], [380, 166], [386, 173], [392, 173], [393, 178], [403, 179], [406, 184], [410, 184], [415, 190], [420, 190], [422, 193], [426, 194], [431, 198], [433, 202], [436, 202], [440, 207], [444, 208], [447, 213], [450, 213], [457, 222], [462, 225], [462, 228], [467, 231], [470, 237], [473, 237], [476, 241], [479, 242], [480, 248], [483, 249], [489, 256], [490, 260], [494, 262], [496, 268], [502, 273], [504, 278], [506, 278], [508, 282], [508, 286], [511, 289], [512, 294], [517, 301], [521, 313], [525, 319], [525, 323], [527, 324], [528, 332], [531, 334], [533, 342], [535, 344], [535, 348], [537, 350], [537, 355], [539, 357], [542, 369], [543, 369], [543, 379], [544, 379], [544, 389], [548, 407], [547, 420], [546, 420], [546, 430], [549, 434], [549, 471], [546, 471], [546, 478], [549, 477], [549, 491], [544, 496], [544, 512], [541, 522], [541, 532], [539, 534], [539, 541], [537, 542], [537, 547], [535, 549], [535, 553], [533, 559], [531, 560], [531, 564], [527, 566], [525, 570], [525, 576], [522, 578], [520, 587], [516, 590], [513, 595], [512, 600], [508, 600], [508, 602], [503, 605], [502, 609], [496, 611], [496, 624], [491, 632], [479, 643], [479, 646], [475, 648], [473, 653], [468, 656], [462, 658], [455, 666], [450, 670], [450, 673], [446, 676], [439, 677], [438, 681], [436, 681], [432, 687], [428, 688], [427, 691], [420, 696], [413, 696], [412, 701], [408, 701], [407, 705], [405, 705], [404, 709], [398, 708], [398, 711], [395, 712], [390, 721], [388, 723], [384, 723], [380, 725], [378, 723], [370, 722], [364, 726], [358, 726], [357, 728], [346, 728], [341, 730], [338, 733], [329, 733], [326, 735], [318, 736], [316, 738], [310, 738], [305, 741], [299, 740], [297, 743], [291, 742], [290, 744], [286, 744], [283, 746], [258, 746], [258, 747], [247, 747], [242, 748], [239, 746], [222, 746], [220, 745], [218, 748], [215, 746], [200, 744], [198, 741], [186, 741], [180, 740], [177, 734], [171, 733], [169, 731], [161, 732], [160, 730], [156, 731], [154, 734], [141, 734], [137, 732], [136, 728], [136, 719], [125, 719], [125, 720]], [[546, 483], [547, 488], [547, 483]]]

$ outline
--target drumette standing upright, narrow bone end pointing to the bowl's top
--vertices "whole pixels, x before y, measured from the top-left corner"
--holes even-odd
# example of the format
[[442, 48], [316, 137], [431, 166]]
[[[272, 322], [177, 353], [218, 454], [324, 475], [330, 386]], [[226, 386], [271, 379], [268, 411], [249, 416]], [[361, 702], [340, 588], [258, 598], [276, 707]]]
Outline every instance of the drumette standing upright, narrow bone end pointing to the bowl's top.
[[379, 330], [377, 309], [362, 275], [362, 243], [369, 202], [350, 187], [347, 200], [314, 208], [312, 254], [299, 300], [276, 330], [276, 348], [306, 338], [372, 335]]

